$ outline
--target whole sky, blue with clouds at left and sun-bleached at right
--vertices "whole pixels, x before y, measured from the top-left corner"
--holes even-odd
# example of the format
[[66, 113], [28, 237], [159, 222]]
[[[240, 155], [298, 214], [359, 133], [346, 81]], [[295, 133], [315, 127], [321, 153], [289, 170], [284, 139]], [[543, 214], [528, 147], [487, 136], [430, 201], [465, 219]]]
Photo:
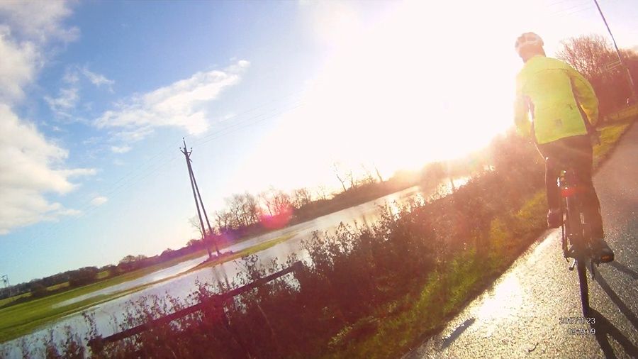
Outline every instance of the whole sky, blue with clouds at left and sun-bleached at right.
[[[520, 33], [608, 33], [592, 1], [0, 1], [0, 275], [196, 238], [233, 193], [338, 186], [511, 126]], [[480, 3], [480, 4], [479, 4]], [[638, 7], [600, 0], [621, 48]]]

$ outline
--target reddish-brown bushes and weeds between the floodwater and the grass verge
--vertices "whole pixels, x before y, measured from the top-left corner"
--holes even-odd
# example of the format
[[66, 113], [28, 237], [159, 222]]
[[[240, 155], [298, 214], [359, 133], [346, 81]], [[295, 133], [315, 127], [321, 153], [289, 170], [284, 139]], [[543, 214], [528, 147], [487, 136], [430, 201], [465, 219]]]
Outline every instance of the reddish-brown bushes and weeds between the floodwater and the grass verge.
[[[478, 281], [478, 267], [498, 267], [498, 256], [522, 243], [510, 223], [525, 231], [519, 209], [542, 188], [542, 165], [531, 143], [497, 138], [493, 170], [481, 172], [453, 194], [412, 201], [398, 212], [379, 209], [370, 226], [340, 225], [303, 243], [309, 260], [294, 279], [269, 282], [169, 325], [103, 348], [97, 357], [308, 358], [325, 355], [374, 331], [379, 313], [418, 296], [432, 277], [443, 281], [429, 295], [437, 318], [449, 312]], [[500, 231], [500, 232], [499, 232]], [[497, 235], [495, 235], [498, 234]], [[514, 232], [516, 233], [516, 232]], [[130, 302], [120, 328], [164, 316], [291, 265], [256, 256], [242, 258], [232, 282], [200, 285], [188, 299], [143, 298]], [[491, 264], [493, 263], [493, 265]], [[433, 309], [433, 310], [434, 310]], [[401, 311], [401, 307], [393, 309]], [[95, 333], [94, 335], [97, 335]]]

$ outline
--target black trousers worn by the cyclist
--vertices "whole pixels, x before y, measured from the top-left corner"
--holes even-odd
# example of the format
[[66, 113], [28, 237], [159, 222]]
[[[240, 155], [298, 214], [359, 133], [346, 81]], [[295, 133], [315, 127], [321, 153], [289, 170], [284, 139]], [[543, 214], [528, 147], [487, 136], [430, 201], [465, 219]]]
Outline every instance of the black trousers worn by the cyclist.
[[[559, 208], [561, 197], [556, 186], [560, 171], [571, 167], [576, 171], [583, 190], [582, 204], [585, 220], [591, 225], [593, 238], [603, 238], [603, 219], [600, 217], [600, 201], [593, 187], [591, 140], [587, 135], [561, 138], [550, 143], [537, 145], [545, 159], [545, 185], [549, 208]], [[549, 161], [547, 160], [549, 158]]]

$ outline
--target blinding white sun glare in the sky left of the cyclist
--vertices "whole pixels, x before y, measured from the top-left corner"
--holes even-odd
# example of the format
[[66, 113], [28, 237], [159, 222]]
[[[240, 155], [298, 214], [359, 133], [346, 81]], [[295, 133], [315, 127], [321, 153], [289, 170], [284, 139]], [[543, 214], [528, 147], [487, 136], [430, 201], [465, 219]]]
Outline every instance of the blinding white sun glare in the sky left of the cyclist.
[[366, 22], [361, 4], [308, 4], [310, 37], [328, 60], [245, 167], [291, 189], [335, 183], [335, 162], [390, 177], [482, 148], [512, 125], [512, 39], [538, 26], [517, 21], [520, 5], [405, 1]]

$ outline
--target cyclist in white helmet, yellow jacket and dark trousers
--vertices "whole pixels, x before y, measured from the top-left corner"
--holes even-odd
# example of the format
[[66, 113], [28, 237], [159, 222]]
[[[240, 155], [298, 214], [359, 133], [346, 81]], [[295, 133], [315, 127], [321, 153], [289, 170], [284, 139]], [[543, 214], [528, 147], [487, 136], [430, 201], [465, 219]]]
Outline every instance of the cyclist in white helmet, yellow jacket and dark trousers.
[[558, 228], [562, 224], [556, 178], [561, 164], [569, 163], [583, 185], [583, 213], [591, 224], [595, 255], [610, 262], [613, 252], [603, 240], [600, 202], [591, 178], [591, 135], [595, 135], [593, 126], [598, 121], [598, 99], [580, 73], [561, 60], [545, 56], [539, 35], [520, 35], [515, 48], [525, 63], [516, 77], [515, 124], [520, 135], [532, 136], [545, 159], [547, 226]]

